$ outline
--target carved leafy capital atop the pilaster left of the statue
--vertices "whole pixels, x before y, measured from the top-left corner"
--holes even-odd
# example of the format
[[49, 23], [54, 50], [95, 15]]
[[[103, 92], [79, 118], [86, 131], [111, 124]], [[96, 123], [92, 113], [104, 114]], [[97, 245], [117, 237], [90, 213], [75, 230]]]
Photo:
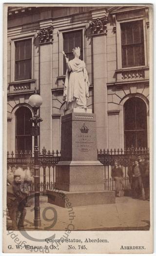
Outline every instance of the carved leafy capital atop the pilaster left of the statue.
[[39, 38], [39, 43], [53, 43], [53, 30], [54, 27], [44, 27], [41, 30], [37, 32], [38, 38]]

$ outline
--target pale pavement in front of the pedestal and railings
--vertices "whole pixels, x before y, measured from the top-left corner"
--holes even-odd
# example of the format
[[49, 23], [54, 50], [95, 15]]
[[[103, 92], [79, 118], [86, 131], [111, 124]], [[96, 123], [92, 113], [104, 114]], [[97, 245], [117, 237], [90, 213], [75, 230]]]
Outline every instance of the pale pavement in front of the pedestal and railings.
[[[34, 230], [33, 200], [29, 200], [31, 207], [26, 208], [25, 230]], [[40, 196], [40, 217], [39, 230], [149, 230], [150, 202], [121, 196], [116, 197], [115, 204], [62, 208], [47, 203], [46, 196]]]

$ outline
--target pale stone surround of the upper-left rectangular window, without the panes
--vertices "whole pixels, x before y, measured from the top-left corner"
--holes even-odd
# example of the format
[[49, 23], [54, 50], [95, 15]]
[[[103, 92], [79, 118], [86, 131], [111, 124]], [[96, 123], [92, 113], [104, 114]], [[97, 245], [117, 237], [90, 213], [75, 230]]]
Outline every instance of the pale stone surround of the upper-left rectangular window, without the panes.
[[[20, 41], [24, 41], [24, 40], [28, 40], [31, 39], [31, 78], [30, 79], [19, 79], [19, 80], [15, 80], [15, 43], [16, 42], [20, 42]], [[32, 35], [29, 35], [27, 37], [18, 37], [18, 38], [13, 38], [10, 40], [11, 43], [11, 73], [10, 73], [10, 83], [18, 83], [18, 82], [22, 82], [22, 81], [30, 81], [30, 80], [34, 80], [34, 39], [35, 39], [35, 35], [34, 33]]]

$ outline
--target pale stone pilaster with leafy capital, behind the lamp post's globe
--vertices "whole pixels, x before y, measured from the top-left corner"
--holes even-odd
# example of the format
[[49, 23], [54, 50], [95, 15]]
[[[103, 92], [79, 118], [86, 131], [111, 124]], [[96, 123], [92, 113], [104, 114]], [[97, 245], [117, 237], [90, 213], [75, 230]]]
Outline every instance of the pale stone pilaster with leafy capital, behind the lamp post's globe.
[[[46, 21], [47, 22], [47, 21]], [[49, 22], [49, 21], [48, 21]], [[49, 24], [49, 23], [48, 23]], [[47, 25], [47, 24], [45, 24]], [[40, 149], [52, 149], [52, 54], [53, 54], [53, 26], [45, 27], [43, 22], [38, 31], [40, 51], [40, 96], [43, 103], [40, 107]]]

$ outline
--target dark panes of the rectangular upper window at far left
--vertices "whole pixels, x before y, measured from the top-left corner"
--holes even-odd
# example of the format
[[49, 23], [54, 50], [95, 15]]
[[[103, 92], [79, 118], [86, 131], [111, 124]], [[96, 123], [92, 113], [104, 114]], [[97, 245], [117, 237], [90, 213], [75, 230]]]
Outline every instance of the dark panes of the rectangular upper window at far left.
[[15, 80], [31, 79], [31, 42], [15, 42]]

